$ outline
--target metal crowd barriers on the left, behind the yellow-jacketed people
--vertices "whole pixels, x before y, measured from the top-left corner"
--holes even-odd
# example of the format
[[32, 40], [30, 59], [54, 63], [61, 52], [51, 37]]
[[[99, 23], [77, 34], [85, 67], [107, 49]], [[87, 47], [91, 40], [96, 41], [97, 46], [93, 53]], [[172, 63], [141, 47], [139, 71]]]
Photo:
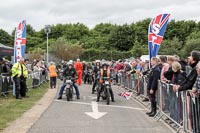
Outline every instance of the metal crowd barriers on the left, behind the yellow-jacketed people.
[[[2, 73], [0, 75], [0, 94], [1, 96], [7, 97], [10, 92], [15, 95], [15, 90], [13, 91], [13, 81], [10, 74]], [[28, 78], [26, 79], [27, 89], [37, 88], [42, 83], [47, 82], [48, 72], [42, 74], [41, 72], [30, 72]]]

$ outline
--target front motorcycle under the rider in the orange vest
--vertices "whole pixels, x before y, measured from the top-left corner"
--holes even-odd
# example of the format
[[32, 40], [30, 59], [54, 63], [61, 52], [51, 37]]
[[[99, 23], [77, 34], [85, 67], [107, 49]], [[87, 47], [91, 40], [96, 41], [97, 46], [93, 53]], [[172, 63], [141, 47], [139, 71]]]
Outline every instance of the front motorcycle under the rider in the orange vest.
[[110, 82], [109, 82], [110, 78], [103, 77], [102, 80], [103, 80], [103, 84], [102, 84], [103, 93], [100, 94], [100, 97], [102, 97], [103, 100], [106, 100], [107, 105], [109, 105], [110, 104], [110, 87], [111, 87]]

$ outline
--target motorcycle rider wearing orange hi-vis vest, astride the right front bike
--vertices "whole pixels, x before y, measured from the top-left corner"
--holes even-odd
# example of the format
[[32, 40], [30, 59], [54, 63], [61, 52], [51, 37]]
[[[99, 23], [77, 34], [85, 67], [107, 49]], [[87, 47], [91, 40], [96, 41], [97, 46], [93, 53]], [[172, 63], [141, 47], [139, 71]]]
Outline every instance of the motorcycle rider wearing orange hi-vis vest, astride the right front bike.
[[[110, 77], [110, 68], [109, 68], [109, 65], [106, 62], [102, 63], [102, 68], [100, 69], [100, 80], [99, 80], [99, 82], [101, 84], [101, 88], [100, 88], [98, 95], [97, 95], [97, 102], [99, 102], [101, 92], [103, 91], [103, 80], [102, 80], [103, 77]], [[109, 82], [110, 82], [110, 80], [109, 80]], [[113, 93], [111, 87], [110, 87], [110, 95], [111, 95], [112, 102], [115, 102], [114, 93]]]

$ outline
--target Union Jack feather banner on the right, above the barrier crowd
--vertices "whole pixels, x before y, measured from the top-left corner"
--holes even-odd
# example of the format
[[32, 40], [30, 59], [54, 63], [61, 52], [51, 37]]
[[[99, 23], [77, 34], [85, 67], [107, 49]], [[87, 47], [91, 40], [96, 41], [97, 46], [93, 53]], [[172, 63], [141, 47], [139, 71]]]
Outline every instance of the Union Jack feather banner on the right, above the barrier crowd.
[[153, 18], [149, 24], [148, 48], [149, 58], [156, 57], [168, 24], [170, 14], [160, 14]]

